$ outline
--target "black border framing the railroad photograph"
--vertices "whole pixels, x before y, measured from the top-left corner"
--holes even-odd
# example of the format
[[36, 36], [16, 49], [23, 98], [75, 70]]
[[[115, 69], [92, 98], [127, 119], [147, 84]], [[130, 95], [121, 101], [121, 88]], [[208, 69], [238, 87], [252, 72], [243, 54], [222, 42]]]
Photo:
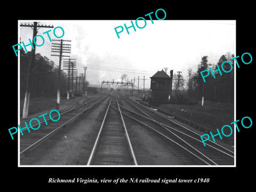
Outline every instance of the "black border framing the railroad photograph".
[[[86, 189], [92, 187], [103, 188], [118, 188], [118, 187], [134, 187], [150, 188], [156, 186], [158, 188], [181, 188], [192, 187], [195, 189], [203, 188], [205, 190], [209, 187], [215, 187], [220, 190], [222, 187], [229, 189], [246, 185], [249, 187], [253, 184], [253, 177], [251, 175], [254, 167], [253, 157], [253, 137], [255, 129], [255, 118], [253, 113], [253, 75], [255, 62], [255, 48], [253, 49], [253, 42], [255, 42], [255, 30], [253, 25], [253, 5], [245, 2], [239, 5], [233, 3], [211, 2], [211, 3], [185, 3], [180, 5], [173, 2], [167, 2], [162, 5], [156, 5], [155, 2], [138, 3], [132, 2], [118, 2], [111, 5], [103, 5], [97, 2], [98, 5], [92, 5], [87, 2], [77, 2], [73, 5], [54, 5], [52, 3], [38, 3], [34, 5], [34, 9], [29, 8], [26, 4], [15, 5], [11, 9], [10, 14], [1, 13], [4, 21], [4, 30], [2, 30], [2, 40], [4, 46], [2, 57], [2, 69], [4, 71], [2, 78], [3, 92], [2, 98], [4, 102], [2, 116], [3, 123], [3, 138], [4, 155], [2, 156], [4, 168], [3, 183], [6, 187], [11, 187], [13, 184], [19, 189], [33, 189], [33, 186], [41, 188], [66, 188], [74, 187]], [[128, 6], [129, 5], [129, 6]], [[253, 61], [250, 65], [240, 65], [236, 73], [236, 114], [237, 119], [242, 119], [244, 116], [250, 116], [253, 119], [253, 126], [250, 129], [241, 129], [237, 132], [237, 167], [18, 167], [18, 138], [14, 137], [11, 140], [9, 129], [12, 126], [18, 125], [18, 58], [15, 57], [12, 50], [12, 45], [17, 44], [18, 38], [18, 20], [135, 20], [143, 15], [155, 12], [157, 9], [164, 9], [167, 13], [165, 20], [237, 20], [236, 22], [236, 55], [242, 55], [244, 52], [251, 53]], [[10, 16], [10, 17], [9, 17]], [[253, 34], [254, 33], [254, 34]], [[150, 41], [150, 39], [149, 39]], [[221, 46], [221, 45], [220, 45]], [[255, 59], [254, 59], [255, 58]], [[5, 75], [6, 74], [6, 75]], [[8, 75], [7, 75], [8, 74]], [[5, 102], [6, 101], [6, 102]], [[7, 117], [7, 118], [6, 118]], [[253, 174], [253, 173], [252, 173]], [[63, 183], [47, 183], [49, 178], [95, 178], [95, 179], [116, 179], [116, 178], [139, 178], [139, 179], [196, 179], [196, 178], [210, 178], [209, 183], [191, 183], [181, 185], [180, 183], [173, 183], [163, 185], [162, 183], [123, 183], [123, 184], [98, 184], [98, 185], [84, 185], [79, 183], [63, 184]], [[132, 185], [131, 185], [132, 184]], [[214, 188], [212, 188], [214, 189]], [[35, 190], [35, 188], [34, 188]]]

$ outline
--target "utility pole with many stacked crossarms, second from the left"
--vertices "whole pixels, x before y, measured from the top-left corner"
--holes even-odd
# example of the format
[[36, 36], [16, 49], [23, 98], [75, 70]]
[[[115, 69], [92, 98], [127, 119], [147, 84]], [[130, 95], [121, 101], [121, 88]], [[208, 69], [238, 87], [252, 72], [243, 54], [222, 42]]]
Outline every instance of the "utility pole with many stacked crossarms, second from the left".
[[[60, 57], [59, 60], [59, 79], [58, 79], [58, 84], [57, 84], [57, 108], [59, 108], [60, 105], [60, 71], [61, 71], [61, 59], [62, 57], [70, 57], [69, 55], [62, 55], [62, 53], [70, 53], [70, 44], [63, 44], [63, 42], [71, 42], [71, 40], [63, 40], [63, 39], [52, 39], [52, 41], [59, 41], [60, 43], [52, 43], [52, 47], [57, 47], [57, 48], [52, 48], [52, 52], [58, 52], [58, 54], [51, 54], [52, 56], [58, 56]], [[56, 50], [56, 51], [55, 51]]]

